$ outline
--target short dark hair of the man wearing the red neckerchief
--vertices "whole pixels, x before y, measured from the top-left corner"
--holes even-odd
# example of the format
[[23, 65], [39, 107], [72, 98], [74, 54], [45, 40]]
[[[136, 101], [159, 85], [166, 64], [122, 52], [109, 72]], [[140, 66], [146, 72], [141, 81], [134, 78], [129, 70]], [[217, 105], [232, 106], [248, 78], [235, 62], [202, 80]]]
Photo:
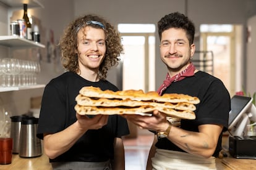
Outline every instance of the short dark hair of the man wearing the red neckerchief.
[[179, 12], [173, 12], [161, 18], [161, 20], [158, 22], [158, 34], [160, 41], [163, 31], [168, 30], [169, 28], [182, 28], [186, 31], [187, 39], [189, 39], [189, 44], [193, 44], [195, 26], [194, 23], [184, 14], [181, 14]]

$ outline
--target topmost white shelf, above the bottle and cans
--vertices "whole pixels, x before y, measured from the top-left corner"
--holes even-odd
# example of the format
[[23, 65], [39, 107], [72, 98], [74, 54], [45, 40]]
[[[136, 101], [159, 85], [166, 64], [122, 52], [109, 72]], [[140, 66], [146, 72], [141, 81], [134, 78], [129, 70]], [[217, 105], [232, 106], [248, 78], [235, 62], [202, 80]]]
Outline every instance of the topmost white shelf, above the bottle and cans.
[[23, 4], [28, 4], [28, 7], [41, 7], [44, 8], [38, 0], [0, 0], [3, 4], [9, 7], [17, 7], [23, 9]]

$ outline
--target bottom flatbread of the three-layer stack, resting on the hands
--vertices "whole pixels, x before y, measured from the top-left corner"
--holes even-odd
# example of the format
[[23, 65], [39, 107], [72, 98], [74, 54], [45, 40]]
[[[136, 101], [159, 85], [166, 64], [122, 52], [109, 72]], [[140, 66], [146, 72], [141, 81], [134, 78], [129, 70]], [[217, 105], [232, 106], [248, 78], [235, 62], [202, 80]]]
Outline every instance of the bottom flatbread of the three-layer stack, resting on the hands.
[[154, 110], [159, 110], [166, 113], [168, 116], [182, 119], [195, 119], [195, 113], [190, 110], [174, 110], [171, 108], [141, 106], [132, 108], [119, 108], [119, 107], [85, 107], [75, 105], [75, 110], [79, 115], [142, 115], [141, 113], [150, 113]]

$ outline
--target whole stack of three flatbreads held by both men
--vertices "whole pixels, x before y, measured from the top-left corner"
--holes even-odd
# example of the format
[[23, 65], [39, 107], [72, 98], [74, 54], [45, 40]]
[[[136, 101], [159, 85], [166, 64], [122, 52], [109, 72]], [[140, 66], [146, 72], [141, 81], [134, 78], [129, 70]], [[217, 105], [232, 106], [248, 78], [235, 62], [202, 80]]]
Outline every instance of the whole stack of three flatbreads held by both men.
[[168, 116], [195, 119], [197, 97], [184, 94], [143, 92], [142, 90], [101, 91], [99, 87], [82, 87], [75, 98], [75, 111], [80, 115], [151, 115], [159, 110]]

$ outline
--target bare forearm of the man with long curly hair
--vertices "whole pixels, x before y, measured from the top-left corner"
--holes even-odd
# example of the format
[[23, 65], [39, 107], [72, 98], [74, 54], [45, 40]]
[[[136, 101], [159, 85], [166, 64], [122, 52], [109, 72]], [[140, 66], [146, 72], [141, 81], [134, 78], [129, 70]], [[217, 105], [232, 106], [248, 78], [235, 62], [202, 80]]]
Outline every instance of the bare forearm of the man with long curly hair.
[[43, 140], [45, 154], [51, 159], [56, 158], [67, 152], [84, 133], [76, 121], [61, 132], [46, 134]]

